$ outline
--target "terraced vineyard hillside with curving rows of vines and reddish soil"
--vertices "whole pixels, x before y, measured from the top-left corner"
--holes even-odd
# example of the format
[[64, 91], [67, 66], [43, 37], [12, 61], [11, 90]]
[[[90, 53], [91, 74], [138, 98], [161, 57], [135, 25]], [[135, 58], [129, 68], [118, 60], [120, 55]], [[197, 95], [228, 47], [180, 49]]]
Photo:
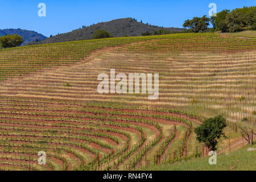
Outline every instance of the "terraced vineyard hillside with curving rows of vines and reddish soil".
[[[221, 114], [256, 126], [256, 39], [110, 38], [0, 49], [0, 169], [131, 170], [206, 154], [193, 129]], [[100, 73], [159, 73], [159, 98], [100, 94]], [[142, 86], [142, 83], [141, 83]], [[246, 118], [246, 119], [245, 119]], [[218, 152], [228, 151], [228, 140]], [[46, 152], [46, 165], [38, 152]]]

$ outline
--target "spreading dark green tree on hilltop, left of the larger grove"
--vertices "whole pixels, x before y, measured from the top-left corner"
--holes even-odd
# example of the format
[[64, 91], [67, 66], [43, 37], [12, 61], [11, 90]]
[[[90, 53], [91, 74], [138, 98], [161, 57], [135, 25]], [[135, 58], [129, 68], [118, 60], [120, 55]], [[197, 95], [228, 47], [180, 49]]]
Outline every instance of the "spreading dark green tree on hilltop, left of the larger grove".
[[205, 32], [209, 26], [210, 19], [204, 15], [203, 17], [194, 17], [192, 20], [185, 20], [183, 27], [191, 29], [193, 32]]

